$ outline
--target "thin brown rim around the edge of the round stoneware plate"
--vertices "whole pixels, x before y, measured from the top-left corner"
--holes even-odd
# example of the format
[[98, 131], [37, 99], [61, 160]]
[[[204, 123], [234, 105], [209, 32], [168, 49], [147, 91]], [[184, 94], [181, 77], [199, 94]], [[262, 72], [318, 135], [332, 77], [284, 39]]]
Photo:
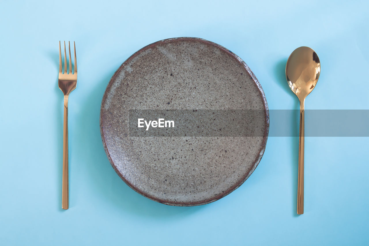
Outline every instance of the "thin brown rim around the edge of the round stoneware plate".
[[[156, 197], [152, 197], [152, 196], [146, 194], [144, 191], [141, 191], [140, 189], [137, 189], [136, 187], [134, 187], [130, 182], [128, 182], [123, 177], [123, 175], [115, 167], [115, 165], [113, 163], [113, 160], [111, 160], [109, 151], [108, 151], [107, 146], [106, 146], [106, 141], [105, 141], [105, 137], [104, 137], [104, 129], [103, 129], [102, 124], [101, 124], [102, 123], [101, 112], [103, 111], [103, 104], [104, 104], [104, 102], [106, 100], [107, 92], [110, 90], [110, 87], [111, 87], [111, 84], [112, 84], [111, 82], [115, 79], [116, 75], [120, 73], [120, 71], [128, 64], [128, 62], [131, 61], [132, 58], [134, 58], [136, 55], [138, 55], [142, 51], [145, 51], [146, 49], [149, 49], [150, 47], [153, 47], [153, 46], [155, 46], [157, 44], [165, 43], [165, 42], [170, 42], [170, 41], [173, 41], [173, 40], [191, 40], [191, 41], [196, 40], [196, 41], [200, 41], [200, 42], [203, 42], [203, 43], [206, 43], [206, 44], [211, 44], [213, 46], [216, 46], [216, 47], [220, 48], [225, 53], [230, 54], [232, 57], [236, 58], [242, 64], [242, 66], [244, 66], [244, 68], [248, 72], [249, 76], [253, 79], [253, 81], [255, 82], [255, 85], [258, 87], [259, 91], [261, 92], [262, 100], [263, 100], [264, 108], [265, 108], [265, 112], [266, 112], [266, 114], [265, 114], [266, 115], [265, 116], [265, 123], [266, 123], [265, 125], [266, 125], [266, 127], [265, 127], [265, 136], [263, 138], [263, 144], [262, 144], [262, 146], [260, 148], [259, 155], [255, 158], [254, 165], [251, 168], [251, 170], [248, 173], [245, 174], [244, 178], [240, 182], [238, 182], [237, 184], [235, 184], [234, 186], [232, 186], [231, 188], [229, 188], [227, 191], [225, 191], [222, 194], [217, 195], [217, 196], [215, 196], [213, 198], [210, 198], [210, 199], [207, 199], [207, 200], [203, 200], [203, 201], [198, 201], [198, 202], [182, 203], [182, 202], [165, 201], [165, 200], [162, 200], [162, 199], [158, 199]], [[258, 166], [258, 164], [261, 161], [261, 158], [263, 157], [263, 154], [264, 154], [265, 148], [266, 148], [266, 141], [268, 140], [268, 134], [269, 134], [269, 107], [268, 107], [268, 103], [266, 102], [265, 93], [264, 93], [264, 90], [263, 90], [260, 82], [256, 78], [255, 74], [251, 71], [251, 69], [249, 68], [249, 66], [240, 57], [238, 57], [238, 55], [234, 54], [232, 51], [230, 51], [229, 49], [227, 49], [227, 48], [225, 48], [225, 47], [223, 47], [223, 46], [221, 46], [219, 44], [216, 44], [214, 42], [211, 42], [211, 41], [208, 41], [208, 40], [205, 40], [205, 39], [202, 39], [202, 38], [194, 38], [194, 37], [168, 38], [168, 39], [160, 40], [160, 41], [154, 42], [152, 44], [146, 45], [145, 47], [139, 49], [137, 52], [135, 52], [134, 54], [132, 54], [127, 60], [125, 60], [123, 62], [123, 64], [117, 69], [117, 71], [114, 72], [113, 76], [111, 77], [111, 79], [110, 79], [110, 81], [109, 81], [109, 83], [108, 83], [108, 85], [107, 85], [107, 87], [105, 89], [105, 92], [104, 92], [104, 95], [103, 95], [103, 99], [101, 100], [101, 107], [100, 107], [100, 134], [101, 134], [101, 140], [103, 141], [103, 146], [104, 146], [104, 150], [105, 150], [106, 156], [108, 157], [108, 160], [109, 160], [111, 166], [113, 167], [113, 169], [115, 170], [115, 172], [118, 174], [118, 176], [131, 189], [133, 189], [134, 191], [136, 191], [137, 193], [139, 193], [140, 195], [142, 195], [142, 196], [144, 196], [146, 198], [149, 198], [149, 199], [151, 199], [153, 201], [160, 202], [160, 203], [166, 204], [166, 205], [172, 205], [172, 206], [199, 206], [199, 205], [204, 205], [204, 204], [208, 204], [208, 203], [211, 203], [211, 202], [215, 202], [215, 201], [219, 200], [220, 198], [223, 198], [226, 195], [229, 195], [235, 189], [237, 189], [238, 187], [240, 187], [248, 179], [248, 177], [250, 177], [250, 175], [252, 174], [252, 172], [254, 172], [255, 168]]]

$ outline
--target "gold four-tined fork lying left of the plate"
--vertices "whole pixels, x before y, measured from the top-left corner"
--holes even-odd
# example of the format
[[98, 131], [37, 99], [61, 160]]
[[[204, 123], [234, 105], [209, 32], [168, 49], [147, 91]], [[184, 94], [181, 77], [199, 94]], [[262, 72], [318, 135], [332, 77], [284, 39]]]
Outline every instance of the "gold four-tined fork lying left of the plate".
[[74, 73], [72, 73], [72, 59], [70, 58], [69, 46], [69, 74], [67, 73], [67, 55], [64, 41], [64, 73], [62, 69], [62, 51], [59, 41], [59, 88], [64, 93], [64, 126], [63, 126], [63, 186], [62, 186], [62, 209], [68, 209], [68, 98], [70, 92], [77, 86], [77, 58], [76, 44], [74, 43]]

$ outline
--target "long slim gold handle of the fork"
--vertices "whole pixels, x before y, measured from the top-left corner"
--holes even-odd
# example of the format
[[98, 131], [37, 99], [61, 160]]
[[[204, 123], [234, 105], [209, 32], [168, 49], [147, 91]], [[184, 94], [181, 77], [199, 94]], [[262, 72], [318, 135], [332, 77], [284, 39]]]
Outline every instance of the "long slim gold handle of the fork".
[[69, 208], [68, 189], [68, 95], [64, 95], [62, 209]]

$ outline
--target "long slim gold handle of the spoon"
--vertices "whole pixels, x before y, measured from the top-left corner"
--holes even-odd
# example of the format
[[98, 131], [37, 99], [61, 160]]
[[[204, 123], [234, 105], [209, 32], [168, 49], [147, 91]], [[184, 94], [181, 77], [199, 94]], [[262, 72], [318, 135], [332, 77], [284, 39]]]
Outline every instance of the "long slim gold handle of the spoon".
[[[304, 100], [305, 101], [305, 100]], [[300, 102], [300, 136], [299, 136], [299, 181], [297, 183], [297, 214], [304, 213], [304, 101]]]

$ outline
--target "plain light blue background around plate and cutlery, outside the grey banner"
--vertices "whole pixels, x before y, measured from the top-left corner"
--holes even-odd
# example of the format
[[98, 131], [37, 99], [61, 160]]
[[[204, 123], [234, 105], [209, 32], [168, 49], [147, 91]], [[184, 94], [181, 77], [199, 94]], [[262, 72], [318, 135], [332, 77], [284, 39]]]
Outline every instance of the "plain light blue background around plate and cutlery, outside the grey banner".
[[[120, 64], [145, 45], [183, 36], [244, 59], [270, 109], [298, 109], [284, 66], [295, 48], [309, 46], [321, 75], [306, 109], [369, 109], [368, 1], [0, 5], [1, 245], [369, 243], [368, 138], [306, 138], [305, 213], [297, 216], [297, 138], [270, 137], [255, 172], [227, 197], [174, 207], [142, 197], [115, 174], [99, 131], [101, 98]], [[59, 40], [75, 40], [78, 58], [69, 100], [68, 211], [61, 209]]]

